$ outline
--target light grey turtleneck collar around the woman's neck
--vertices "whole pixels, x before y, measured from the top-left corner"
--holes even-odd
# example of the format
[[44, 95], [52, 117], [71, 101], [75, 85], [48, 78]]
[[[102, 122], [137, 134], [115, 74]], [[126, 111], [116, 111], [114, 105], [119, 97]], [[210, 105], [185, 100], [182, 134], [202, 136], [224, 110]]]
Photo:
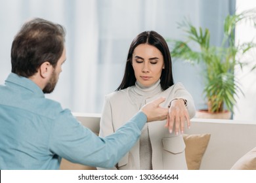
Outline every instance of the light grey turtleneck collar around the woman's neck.
[[140, 82], [136, 81], [134, 92], [144, 97], [152, 97], [157, 93], [162, 92], [160, 80], [158, 80], [155, 84], [152, 84], [151, 86], [142, 86]]

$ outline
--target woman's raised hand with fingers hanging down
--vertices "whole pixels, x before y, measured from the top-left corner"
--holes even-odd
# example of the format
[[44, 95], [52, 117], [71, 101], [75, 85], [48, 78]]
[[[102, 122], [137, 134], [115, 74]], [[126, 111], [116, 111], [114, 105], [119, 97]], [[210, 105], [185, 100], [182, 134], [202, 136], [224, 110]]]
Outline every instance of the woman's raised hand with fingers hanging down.
[[[169, 132], [172, 133], [175, 130], [175, 134], [179, 135], [179, 132], [184, 133], [184, 124], [190, 127], [190, 118], [188, 110], [186, 109], [186, 103], [184, 99], [174, 99], [171, 101], [167, 122], [165, 127], [169, 128]], [[173, 129], [175, 127], [175, 129]]]

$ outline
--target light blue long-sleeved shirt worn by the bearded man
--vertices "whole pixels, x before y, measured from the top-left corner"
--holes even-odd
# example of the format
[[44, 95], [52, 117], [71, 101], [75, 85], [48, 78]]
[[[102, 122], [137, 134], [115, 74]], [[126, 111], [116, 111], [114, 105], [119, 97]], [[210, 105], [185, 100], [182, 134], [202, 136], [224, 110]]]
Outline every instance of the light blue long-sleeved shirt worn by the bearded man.
[[113, 135], [98, 137], [32, 80], [11, 73], [0, 86], [0, 169], [59, 169], [61, 158], [113, 167], [145, 123], [139, 112]]

